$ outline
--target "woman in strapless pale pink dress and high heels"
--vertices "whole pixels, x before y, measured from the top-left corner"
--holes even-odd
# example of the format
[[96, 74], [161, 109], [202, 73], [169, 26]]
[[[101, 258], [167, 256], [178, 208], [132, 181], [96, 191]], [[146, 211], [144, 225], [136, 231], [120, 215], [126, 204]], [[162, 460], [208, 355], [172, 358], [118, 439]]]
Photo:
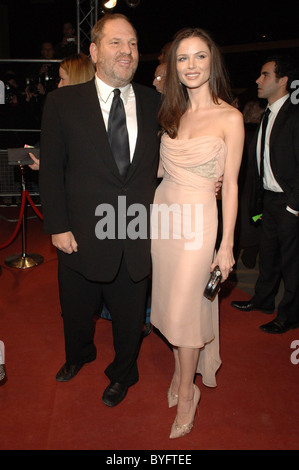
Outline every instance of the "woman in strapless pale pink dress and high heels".
[[[219, 356], [218, 300], [203, 296], [218, 265], [223, 281], [234, 265], [238, 173], [244, 126], [228, 104], [221, 55], [198, 28], [180, 31], [169, 52], [159, 114], [163, 180], [152, 211], [151, 322], [172, 345], [174, 374], [169, 406], [177, 405], [170, 438], [189, 433], [200, 398], [194, 376], [216, 386]], [[215, 183], [223, 175], [223, 234], [215, 254]]]

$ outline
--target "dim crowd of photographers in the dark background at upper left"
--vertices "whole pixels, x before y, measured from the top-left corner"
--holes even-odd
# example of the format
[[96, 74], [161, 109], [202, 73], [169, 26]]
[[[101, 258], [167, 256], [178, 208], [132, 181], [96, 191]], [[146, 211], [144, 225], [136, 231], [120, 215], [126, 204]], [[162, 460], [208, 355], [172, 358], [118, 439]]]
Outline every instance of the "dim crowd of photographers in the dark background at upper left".
[[[46, 96], [60, 81], [59, 61], [77, 54], [77, 49], [75, 28], [66, 21], [58, 44], [48, 39], [41, 43], [38, 62], [1, 67], [0, 80], [5, 87], [5, 106], [0, 108], [1, 128], [40, 129]], [[34, 144], [34, 139], [30, 132], [7, 133], [1, 136], [1, 147]]]

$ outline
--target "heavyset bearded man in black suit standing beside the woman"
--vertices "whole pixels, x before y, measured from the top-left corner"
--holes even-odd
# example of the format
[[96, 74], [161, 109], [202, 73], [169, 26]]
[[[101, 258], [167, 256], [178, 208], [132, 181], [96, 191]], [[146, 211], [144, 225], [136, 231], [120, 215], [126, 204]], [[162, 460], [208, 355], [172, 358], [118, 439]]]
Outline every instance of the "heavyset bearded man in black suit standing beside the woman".
[[[105, 370], [110, 384], [102, 401], [115, 406], [138, 381], [151, 269], [148, 233], [157, 185], [160, 95], [132, 83], [138, 65], [137, 35], [126, 17], [105, 15], [94, 26], [91, 41], [95, 79], [60, 88], [47, 98], [40, 192], [44, 229], [52, 235], [59, 260], [66, 363], [56, 379], [72, 379], [95, 359], [93, 316], [104, 301], [112, 318], [115, 357]], [[121, 127], [128, 135], [129, 161], [120, 169], [113, 137], [109, 140], [115, 89], [120, 90], [120, 101], [117, 92], [115, 97], [125, 110], [126, 126], [122, 121]], [[123, 148], [121, 144], [119, 153]], [[147, 233], [143, 227], [137, 237], [132, 230], [127, 232], [134, 222], [127, 211], [134, 207], [145, 208], [147, 214], [142, 219]], [[109, 209], [115, 213], [113, 220], [107, 216]]]

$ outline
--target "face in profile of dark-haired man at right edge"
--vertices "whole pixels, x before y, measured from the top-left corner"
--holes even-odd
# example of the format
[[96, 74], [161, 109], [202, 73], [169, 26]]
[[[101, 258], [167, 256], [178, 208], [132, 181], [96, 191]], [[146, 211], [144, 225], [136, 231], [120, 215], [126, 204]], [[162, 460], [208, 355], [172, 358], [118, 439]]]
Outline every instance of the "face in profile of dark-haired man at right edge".
[[271, 104], [282, 96], [281, 92], [285, 89], [285, 77], [277, 78], [275, 62], [266, 62], [256, 84], [258, 97], [266, 98]]

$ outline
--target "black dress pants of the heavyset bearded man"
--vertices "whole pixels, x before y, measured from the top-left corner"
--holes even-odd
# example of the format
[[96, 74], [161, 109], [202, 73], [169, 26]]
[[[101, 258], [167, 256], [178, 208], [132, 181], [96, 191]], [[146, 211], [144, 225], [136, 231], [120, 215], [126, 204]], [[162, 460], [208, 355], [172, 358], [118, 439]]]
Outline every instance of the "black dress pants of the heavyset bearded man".
[[105, 373], [112, 382], [128, 387], [136, 383], [148, 278], [132, 281], [123, 258], [112, 282], [90, 281], [61, 262], [58, 280], [67, 363], [80, 364], [96, 358], [94, 315], [101, 312], [105, 302], [111, 314], [115, 350]]

